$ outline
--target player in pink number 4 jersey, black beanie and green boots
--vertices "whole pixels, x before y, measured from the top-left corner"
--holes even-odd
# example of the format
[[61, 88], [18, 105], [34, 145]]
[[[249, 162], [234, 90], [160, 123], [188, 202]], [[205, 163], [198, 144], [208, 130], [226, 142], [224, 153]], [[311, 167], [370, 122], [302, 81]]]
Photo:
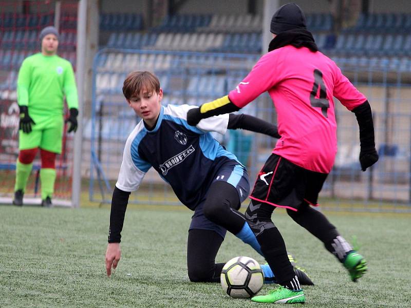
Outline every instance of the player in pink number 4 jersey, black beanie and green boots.
[[320, 239], [348, 269], [352, 281], [367, 269], [364, 257], [354, 251], [320, 211], [310, 206], [317, 205], [337, 153], [333, 97], [356, 114], [363, 171], [377, 162], [378, 154], [366, 97], [331, 59], [318, 51], [300, 7], [290, 3], [279, 8], [272, 17], [270, 31], [273, 40], [269, 52], [236, 89], [191, 109], [187, 120], [195, 125], [212, 115], [237, 111], [265, 91], [270, 94], [282, 137], [257, 177], [246, 218], [280, 287], [252, 300], [303, 303], [305, 295], [287, 258], [283, 237], [271, 220], [275, 207], [286, 208], [296, 223]]

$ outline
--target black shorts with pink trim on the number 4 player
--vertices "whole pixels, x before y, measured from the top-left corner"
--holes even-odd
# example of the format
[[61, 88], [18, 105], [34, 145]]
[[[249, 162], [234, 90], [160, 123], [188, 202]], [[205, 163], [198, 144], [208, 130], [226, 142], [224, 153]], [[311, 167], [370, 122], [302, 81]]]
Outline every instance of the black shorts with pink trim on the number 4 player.
[[259, 172], [250, 198], [295, 211], [304, 203], [317, 206], [327, 176], [272, 154]]

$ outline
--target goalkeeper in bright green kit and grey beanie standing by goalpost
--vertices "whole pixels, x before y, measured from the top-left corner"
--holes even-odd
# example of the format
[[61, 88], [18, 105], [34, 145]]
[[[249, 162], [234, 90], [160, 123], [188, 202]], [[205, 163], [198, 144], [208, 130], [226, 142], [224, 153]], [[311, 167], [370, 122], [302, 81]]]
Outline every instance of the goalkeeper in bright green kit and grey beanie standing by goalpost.
[[40, 33], [41, 52], [27, 57], [18, 72], [17, 102], [20, 107], [19, 150], [16, 162], [14, 205], [23, 195], [33, 160], [40, 148], [42, 206], [51, 206], [55, 157], [61, 153], [64, 95], [70, 110], [67, 132], [77, 130], [78, 97], [73, 68], [57, 55], [59, 33], [46, 27]]

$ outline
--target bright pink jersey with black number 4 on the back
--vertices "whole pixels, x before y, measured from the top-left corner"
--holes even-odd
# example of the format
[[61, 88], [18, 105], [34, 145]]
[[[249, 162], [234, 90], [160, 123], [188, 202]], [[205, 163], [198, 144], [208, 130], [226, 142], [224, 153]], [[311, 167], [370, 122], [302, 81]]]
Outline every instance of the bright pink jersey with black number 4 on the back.
[[273, 100], [282, 136], [272, 152], [328, 174], [337, 153], [333, 97], [348, 110], [366, 97], [327, 56], [291, 45], [263, 55], [229, 98], [241, 108], [265, 91]]

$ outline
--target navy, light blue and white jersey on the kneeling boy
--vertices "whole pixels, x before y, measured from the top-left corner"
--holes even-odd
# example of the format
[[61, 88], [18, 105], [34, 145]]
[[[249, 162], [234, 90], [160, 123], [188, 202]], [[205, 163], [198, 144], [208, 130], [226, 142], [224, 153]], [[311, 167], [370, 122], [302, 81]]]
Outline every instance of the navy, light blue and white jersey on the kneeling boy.
[[148, 130], [141, 120], [130, 133], [123, 153], [117, 188], [138, 189], [153, 167], [169, 183], [178, 199], [194, 209], [207, 194], [219, 168], [229, 162], [241, 165], [210, 131], [225, 133], [229, 115], [201, 120], [197, 126], [186, 121], [189, 105], [162, 106], [156, 126]]

